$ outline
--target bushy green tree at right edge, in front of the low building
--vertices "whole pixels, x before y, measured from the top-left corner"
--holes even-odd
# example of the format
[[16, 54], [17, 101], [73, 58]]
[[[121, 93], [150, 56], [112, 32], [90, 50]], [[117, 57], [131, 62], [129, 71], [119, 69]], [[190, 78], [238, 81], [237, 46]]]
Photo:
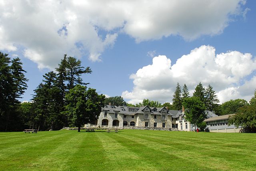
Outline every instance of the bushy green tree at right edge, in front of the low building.
[[228, 124], [242, 126], [245, 132], [256, 133], [256, 105], [244, 105], [228, 119]]

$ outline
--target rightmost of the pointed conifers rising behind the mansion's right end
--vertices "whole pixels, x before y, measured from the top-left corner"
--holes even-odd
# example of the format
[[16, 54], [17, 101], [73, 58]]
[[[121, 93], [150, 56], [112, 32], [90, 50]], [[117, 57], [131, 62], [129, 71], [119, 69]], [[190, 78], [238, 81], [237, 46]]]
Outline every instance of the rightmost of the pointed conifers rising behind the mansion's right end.
[[213, 87], [209, 84], [206, 88], [206, 109], [210, 111], [214, 111], [216, 107], [218, 106], [217, 103], [220, 102], [218, 99], [218, 96], [216, 95], [215, 91], [213, 90]]

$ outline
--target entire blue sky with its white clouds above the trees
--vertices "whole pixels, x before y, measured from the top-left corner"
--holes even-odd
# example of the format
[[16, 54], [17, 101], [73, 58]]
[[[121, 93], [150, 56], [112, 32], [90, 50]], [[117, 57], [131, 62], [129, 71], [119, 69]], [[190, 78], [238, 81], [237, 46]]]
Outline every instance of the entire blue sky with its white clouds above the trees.
[[220, 101], [256, 89], [256, 2], [0, 1], [0, 51], [20, 57], [32, 98], [64, 54], [90, 66], [89, 87], [129, 103], [172, 102], [202, 82]]

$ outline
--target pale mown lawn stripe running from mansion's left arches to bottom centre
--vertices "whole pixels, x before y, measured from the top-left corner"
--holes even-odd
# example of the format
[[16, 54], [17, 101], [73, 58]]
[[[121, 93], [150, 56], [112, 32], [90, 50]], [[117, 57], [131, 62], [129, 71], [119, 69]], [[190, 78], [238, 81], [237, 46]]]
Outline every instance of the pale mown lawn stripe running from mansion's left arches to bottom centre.
[[[122, 131], [120, 131], [122, 133]], [[118, 133], [118, 134], [120, 134]], [[98, 134], [99, 140], [104, 147], [106, 161], [104, 167], [99, 170], [157, 170], [155, 164], [148, 162], [138, 155], [138, 151], [131, 150], [131, 147], [118, 142], [117, 133]], [[129, 143], [126, 141], [125, 143]], [[134, 146], [134, 145], [132, 145]], [[143, 167], [141, 167], [143, 166]], [[105, 168], [106, 167], [106, 168]]]

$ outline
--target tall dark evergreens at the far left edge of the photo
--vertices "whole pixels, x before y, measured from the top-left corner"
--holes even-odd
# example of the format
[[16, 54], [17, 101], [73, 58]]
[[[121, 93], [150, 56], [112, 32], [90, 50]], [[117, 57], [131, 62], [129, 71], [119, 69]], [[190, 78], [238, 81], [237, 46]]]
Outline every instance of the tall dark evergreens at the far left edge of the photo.
[[19, 130], [18, 100], [27, 89], [28, 81], [19, 58], [10, 61], [0, 52], [0, 131]]

